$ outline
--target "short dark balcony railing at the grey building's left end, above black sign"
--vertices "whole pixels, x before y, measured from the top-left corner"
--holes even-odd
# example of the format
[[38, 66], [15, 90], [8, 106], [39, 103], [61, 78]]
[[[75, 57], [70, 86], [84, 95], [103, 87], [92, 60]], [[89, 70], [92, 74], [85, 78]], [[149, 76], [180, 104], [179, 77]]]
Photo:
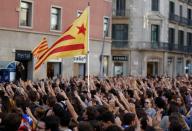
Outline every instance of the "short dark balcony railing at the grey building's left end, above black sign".
[[118, 49], [129, 48], [129, 42], [127, 40], [113, 40], [112, 48], [118, 48]]

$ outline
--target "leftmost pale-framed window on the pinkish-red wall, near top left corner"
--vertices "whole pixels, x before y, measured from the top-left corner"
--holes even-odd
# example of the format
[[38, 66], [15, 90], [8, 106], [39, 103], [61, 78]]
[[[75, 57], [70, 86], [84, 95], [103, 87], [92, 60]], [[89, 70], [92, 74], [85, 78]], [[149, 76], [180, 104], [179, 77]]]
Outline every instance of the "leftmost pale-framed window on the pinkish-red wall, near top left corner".
[[20, 26], [32, 26], [32, 3], [21, 1]]

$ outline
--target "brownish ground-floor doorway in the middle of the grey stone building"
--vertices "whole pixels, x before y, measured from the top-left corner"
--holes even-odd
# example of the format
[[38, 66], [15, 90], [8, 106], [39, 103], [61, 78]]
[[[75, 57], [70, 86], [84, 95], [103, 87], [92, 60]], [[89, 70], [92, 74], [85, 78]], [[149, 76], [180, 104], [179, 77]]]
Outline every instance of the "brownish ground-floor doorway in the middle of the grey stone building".
[[147, 62], [147, 76], [158, 76], [158, 62]]

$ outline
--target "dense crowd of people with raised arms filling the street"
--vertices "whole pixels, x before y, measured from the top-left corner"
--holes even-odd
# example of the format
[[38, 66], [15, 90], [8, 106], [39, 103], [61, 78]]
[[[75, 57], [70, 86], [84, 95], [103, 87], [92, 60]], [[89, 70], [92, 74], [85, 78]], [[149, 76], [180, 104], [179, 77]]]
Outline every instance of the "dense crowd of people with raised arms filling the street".
[[192, 77], [0, 83], [0, 131], [190, 131]]

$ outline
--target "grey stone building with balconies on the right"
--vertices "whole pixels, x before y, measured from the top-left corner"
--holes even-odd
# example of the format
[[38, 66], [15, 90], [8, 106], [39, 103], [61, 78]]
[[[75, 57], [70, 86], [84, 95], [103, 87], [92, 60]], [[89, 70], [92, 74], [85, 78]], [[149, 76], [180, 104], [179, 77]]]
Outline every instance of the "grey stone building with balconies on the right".
[[191, 73], [191, 0], [113, 0], [113, 75]]

